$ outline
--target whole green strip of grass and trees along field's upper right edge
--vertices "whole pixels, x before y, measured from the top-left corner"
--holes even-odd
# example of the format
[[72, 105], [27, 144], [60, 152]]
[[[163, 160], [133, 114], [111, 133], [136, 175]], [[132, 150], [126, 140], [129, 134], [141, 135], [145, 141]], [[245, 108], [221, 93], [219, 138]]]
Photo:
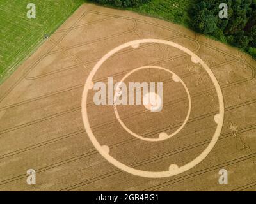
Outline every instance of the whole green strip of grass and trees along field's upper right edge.
[[[92, 0], [182, 24], [256, 57], [256, 0]], [[220, 19], [219, 5], [228, 5]]]

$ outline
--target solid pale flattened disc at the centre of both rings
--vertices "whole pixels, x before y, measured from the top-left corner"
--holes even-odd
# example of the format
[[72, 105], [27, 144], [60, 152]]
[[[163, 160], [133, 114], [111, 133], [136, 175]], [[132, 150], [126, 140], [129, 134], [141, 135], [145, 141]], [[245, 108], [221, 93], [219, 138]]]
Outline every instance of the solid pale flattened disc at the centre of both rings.
[[148, 92], [143, 96], [143, 105], [151, 112], [157, 112], [162, 106], [162, 99], [155, 92]]

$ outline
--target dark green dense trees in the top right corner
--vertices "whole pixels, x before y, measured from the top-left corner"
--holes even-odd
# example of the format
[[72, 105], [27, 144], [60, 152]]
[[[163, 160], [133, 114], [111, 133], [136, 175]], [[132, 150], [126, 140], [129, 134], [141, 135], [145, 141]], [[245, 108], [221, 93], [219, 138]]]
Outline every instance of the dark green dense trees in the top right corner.
[[[219, 5], [228, 5], [228, 18], [220, 19]], [[256, 0], [198, 1], [190, 12], [191, 26], [256, 57]]]

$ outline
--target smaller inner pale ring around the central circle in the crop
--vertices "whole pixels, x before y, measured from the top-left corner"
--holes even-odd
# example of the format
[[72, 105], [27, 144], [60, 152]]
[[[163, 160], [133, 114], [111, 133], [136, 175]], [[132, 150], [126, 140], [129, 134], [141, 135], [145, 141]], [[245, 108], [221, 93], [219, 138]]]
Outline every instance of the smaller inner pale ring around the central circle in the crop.
[[129, 73], [127, 73], [123, 78], [122, 80], [120, 80], [120, 82], [118, 83], [118, 85], [116, 86], [117, 89], [115, 90], [115, 94], [114, 94], [114, 101], [116, 101], [116, 98], [118, 98], [118, 87], [120, 87], [120, 84], [122, 84], [124, 82], [124, 80], [129, 77], [132, 73], [136, 72], [136, 71], [139, 71], [141, 69], [148, 69], [148, 68], [154, 68], [154, 69], [161, 69], [161, 70], [164, 70], [164, 71], [167, 71], [168, 73], [171, 73], [172, 74], [172, 78], [175, 82], [180, 82], [184, 89], [186, 90], [186, 93], [188, 95], [188, 113], [186, 115], [186, 118], [184, 120], [184, 122], [182, 123], [182, 125], [176, 130], [174, 131], [172, 134], [168, 135], [167, 133], [160, 133], [158, 138], [145, 138], [143, 136], [140, 136], [136, 133], [134, 133], [133, 131], [131, 131], [131, 129], [127, 128], [127, 126], [125, 126], [124, 122], [122, 122], [122, 120], [120, 119], [120, 115], [118, 113], [118, 110], [116, 108], [116, 105], [114, 105], [114, 110], [115, 110], [115, 115], [116, 115], [116, 119], [118, 120], [118, 122], [121, 124], [121, 126], [127, 131], [127, 133], [131, 134], [132, 136], [135, 136], [136, 138], [139, 138], [141, 140], [145, 140], [145, 141], [151, 141], [151, 142], [156, 142], [156, 141], [161, 141], [161, 140], [166, 140], [168, 138], [171, 138], [172, 136], [174, 135], [177, 135], [177, 133], [179, 133], [181, 131], [182, 128], [184, 128], [184, 126], [186, 125], [186, 123], [188, 122], [188, 119], [189, 119], [189, 115], [190, 115], [190, 112], [191, 112], [191, 96], [189, 94], [189, 91], [188, 91], [188, 87], [186, 86], [186, 84], [181, 80], [181, 78], [179, 78], [175, 73], [173, 73], [173, 71], [170, 71], [169, 69], [166, 69], [166, 68], [162, 68], [160, 66], [142, 66], [140, 68], [136, 68], [136, 69], [133, 69], [132, 71], [130, 71]]

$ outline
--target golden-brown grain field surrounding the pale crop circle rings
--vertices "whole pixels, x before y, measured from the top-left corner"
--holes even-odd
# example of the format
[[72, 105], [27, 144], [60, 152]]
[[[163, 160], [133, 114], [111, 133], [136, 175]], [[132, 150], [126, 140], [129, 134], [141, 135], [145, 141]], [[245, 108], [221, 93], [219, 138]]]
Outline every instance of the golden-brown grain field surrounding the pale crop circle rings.
[[[218, 80], [225, 119], [218, 142], [194, 168], [173, 177], [148, 179], [120, 170], [102, 157], [86, 135], [81, 113], [84, 83], [99, 59], [132, 40], [173, 41], [197, 54]], [[191, 113], [172, 138], [148, 142], [129, 135], [112, 105], [96, 106], [88, 94], [88, 119], [95, 138], [127, 166], [167, 171], [195, 159], [209, 144], [219, 112], [218, 96], [204, 68], [177, 48], [145, 43], [125, 48], [108, 59], [94, 82], [115, 82], [132, 69], [154, 65], [170, 69], [191, 94]], [[123, 190], [256, 190], [256, 61], [235, 48], [154, 18], [130, 11], [84, 4], [45, 40], [0, 87], [0, 190], [123, 191]], [[143, 69], [127, 82], [163, 82], [163, 111], [143, 105], [120, 105], [127, 128], [145, 138], [173, 133], [188, 111], [188, 96], [172, 75]], [[36, 170], [36, 185], [26, 183]], [[228, 171], [228, 185], [218, 183]]]

